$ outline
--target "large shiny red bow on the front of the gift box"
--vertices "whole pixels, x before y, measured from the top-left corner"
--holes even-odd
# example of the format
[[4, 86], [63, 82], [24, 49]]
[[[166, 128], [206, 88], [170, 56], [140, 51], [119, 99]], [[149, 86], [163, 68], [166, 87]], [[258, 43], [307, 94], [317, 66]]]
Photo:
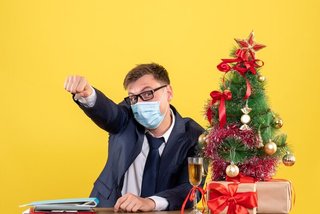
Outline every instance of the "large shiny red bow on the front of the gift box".
[[213, 214], [221, 212], [228, 206], [227, 214], [249, 214], [246, 208], [258, 206], [256, 192], [237, 192], [238, 184], [228, 184], [228, 188], [220, 183], [210, 183], [205, 190], [210, 189], [210, 200], [207, 202]]

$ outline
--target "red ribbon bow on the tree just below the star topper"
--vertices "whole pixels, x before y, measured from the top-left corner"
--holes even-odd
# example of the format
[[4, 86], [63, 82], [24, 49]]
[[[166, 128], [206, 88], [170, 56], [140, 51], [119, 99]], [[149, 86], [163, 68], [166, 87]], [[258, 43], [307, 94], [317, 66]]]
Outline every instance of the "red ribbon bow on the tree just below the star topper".
[[[240, 49], [238, 49], [236, 51], [235, 56], [237, 56], [238, 58], [236, 58], [236, 59], [221, 59], [222, 62], [217, 66], [217, 69], [219, 71], [225, 72], [225, 74], [231, 70], [234, 70], [234, 71], [237, 71], [241, 76], [243, 76], [245, 78], [246, 83], [247, 83], [247, 90], [246, 90], [246, 93], [245, 93], [243, 100], [246, 100], [251, 94], [251, 87], [250, 87], [250, 83], [249, 83], [248, 79], [246, 78], [246, 76], [244, 75], [244, 73], [247, 70], [250, 70], [253, 74], [256, 74], [255, 68], [262, 67], [264, 65], [264, 62], [261, 61], [260, 59], [254, 59], [254, 60], [249, 61], [248, 57], [245, 57], [245, 53]], [[258, 61], [262, 62], [262, 66], [260, 66], [256, 63]], [[227, 63], [234, 63], [234, 62], [238, 62], [238, 64], [234, 67], [230, 67], [227, 64]], [[242, 68], [240, 66], [245, 66], [245, 68]], [[224, 74], [224, 76], [225, 76], [225, 74]], [[223, 85], [225, 87], [224, 76], [223, 76]]]

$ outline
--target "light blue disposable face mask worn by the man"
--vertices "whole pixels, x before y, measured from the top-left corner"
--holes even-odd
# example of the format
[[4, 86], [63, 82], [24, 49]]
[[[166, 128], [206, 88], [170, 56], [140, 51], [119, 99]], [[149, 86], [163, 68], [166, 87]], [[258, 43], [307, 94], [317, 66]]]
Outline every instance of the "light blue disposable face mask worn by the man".
[[137, 102], [131, 105], [134, 119], [147, 129], [156, 129], [167, 114], [169, 102], [167, 104], [166, 113], [161, 114], [160, 112], [160, 102], [165, 94], [165, 91], [166, 88], [164, 90], [164, 93], [162, 94], [160, 101]]

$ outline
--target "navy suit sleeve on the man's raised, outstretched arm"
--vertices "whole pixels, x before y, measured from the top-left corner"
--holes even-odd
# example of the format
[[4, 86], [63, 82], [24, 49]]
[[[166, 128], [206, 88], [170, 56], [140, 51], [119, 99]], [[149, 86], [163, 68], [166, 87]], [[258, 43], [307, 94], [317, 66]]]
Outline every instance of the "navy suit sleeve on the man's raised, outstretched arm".
[[88, 108], [81, 105], [77, 100], [74, 101], [101, 129], [110, 134], [118, 133], [128, 123], [130, 106], [126, 106], [125, 103], [116, 104], [99, 90], [95, 89], [95, 91], [97, 100], [93, 107]]

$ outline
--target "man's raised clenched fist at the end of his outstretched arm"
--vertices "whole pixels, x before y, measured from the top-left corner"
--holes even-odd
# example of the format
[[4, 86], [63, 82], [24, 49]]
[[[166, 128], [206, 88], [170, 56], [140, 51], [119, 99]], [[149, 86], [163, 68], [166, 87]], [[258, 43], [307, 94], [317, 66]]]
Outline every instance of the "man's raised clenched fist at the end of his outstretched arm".
[[78, 94], [79, 97], [88, 97], [93, 92], [88, 80], [78, 75], [68, 76], [63, 87], [68, 92]]

